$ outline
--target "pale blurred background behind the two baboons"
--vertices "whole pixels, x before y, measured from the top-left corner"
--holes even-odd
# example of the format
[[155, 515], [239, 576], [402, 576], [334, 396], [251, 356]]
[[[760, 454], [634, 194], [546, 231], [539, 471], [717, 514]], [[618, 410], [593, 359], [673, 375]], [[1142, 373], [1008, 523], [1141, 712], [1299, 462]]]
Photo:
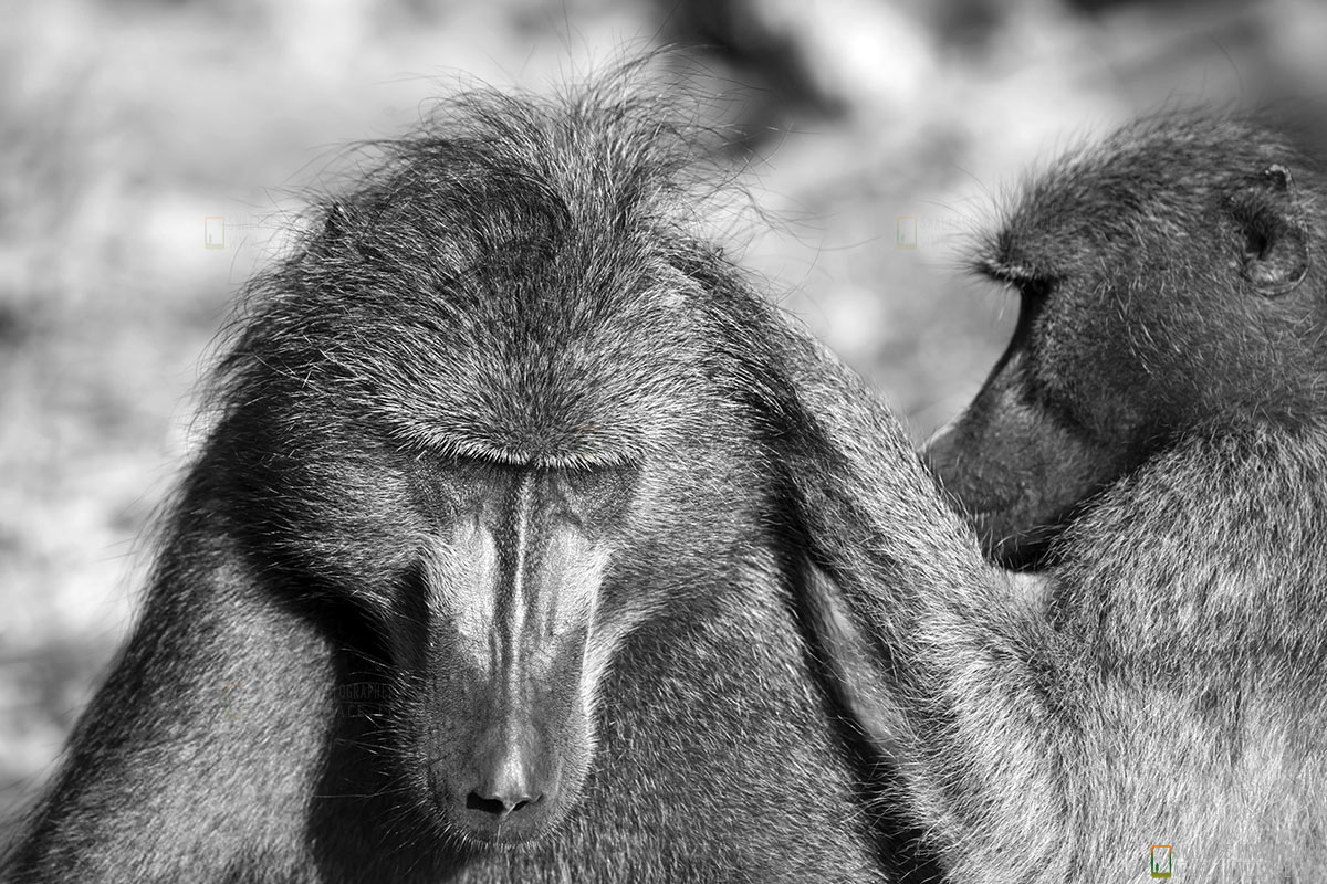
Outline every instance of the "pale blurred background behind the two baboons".
[[346, 142], [458, 86], [691, 46], [763, 213], [717, 229], [921, 440], [1013, 326], [962, 257], [1028, 170], [1158, 107], [1327, 85], [1307, 0], [0, 0], [0, 842], [133, 622], [228, 301]]

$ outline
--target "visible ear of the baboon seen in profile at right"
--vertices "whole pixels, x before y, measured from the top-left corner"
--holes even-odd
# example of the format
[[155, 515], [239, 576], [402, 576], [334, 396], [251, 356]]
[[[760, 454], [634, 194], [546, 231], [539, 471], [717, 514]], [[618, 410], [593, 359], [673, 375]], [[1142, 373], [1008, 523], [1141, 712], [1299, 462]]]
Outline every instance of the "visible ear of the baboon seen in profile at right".
[[1290, 170], [1269, 166], [1233, 200], [1241, 274], [1261, 294], [1294, 290], [1308, 276], [1308, 235], [1294, 201]]

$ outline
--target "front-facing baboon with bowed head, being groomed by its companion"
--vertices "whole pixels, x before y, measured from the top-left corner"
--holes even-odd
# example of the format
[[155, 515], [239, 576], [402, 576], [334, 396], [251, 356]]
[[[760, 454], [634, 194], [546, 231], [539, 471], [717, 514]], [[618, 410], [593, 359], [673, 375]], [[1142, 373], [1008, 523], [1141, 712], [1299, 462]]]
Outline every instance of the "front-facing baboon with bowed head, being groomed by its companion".
[[252, 284], [0, 879], [888, 880], [667, 91], [458, 99]]

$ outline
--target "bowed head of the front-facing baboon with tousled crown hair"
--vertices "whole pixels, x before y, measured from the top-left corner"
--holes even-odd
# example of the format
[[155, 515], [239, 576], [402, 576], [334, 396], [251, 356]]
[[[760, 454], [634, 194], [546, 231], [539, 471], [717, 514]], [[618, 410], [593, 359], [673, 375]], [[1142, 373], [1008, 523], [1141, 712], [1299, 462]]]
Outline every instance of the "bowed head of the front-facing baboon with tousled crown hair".
[[626, 105], [467, 110], [325, 209], [227, 363], [260, 554], [380, 637], [384, 763], [463, 840], [575, 804], [613, 655], [730, 542], [739, 420], [660, 140]]

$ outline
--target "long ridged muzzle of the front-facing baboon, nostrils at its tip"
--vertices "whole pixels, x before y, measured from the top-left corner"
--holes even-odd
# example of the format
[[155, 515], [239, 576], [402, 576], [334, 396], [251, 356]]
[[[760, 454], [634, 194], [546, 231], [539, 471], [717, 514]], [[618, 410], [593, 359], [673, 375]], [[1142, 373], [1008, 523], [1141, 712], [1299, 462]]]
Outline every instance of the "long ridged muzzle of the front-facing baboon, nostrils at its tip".
[[445, 718], [435, 799], [479, 840], [543, 831], [588, 765], [584, 660], [601, 561], [552, 497], [529, 476], [488, 496], [431, 577], [430, 705]]

